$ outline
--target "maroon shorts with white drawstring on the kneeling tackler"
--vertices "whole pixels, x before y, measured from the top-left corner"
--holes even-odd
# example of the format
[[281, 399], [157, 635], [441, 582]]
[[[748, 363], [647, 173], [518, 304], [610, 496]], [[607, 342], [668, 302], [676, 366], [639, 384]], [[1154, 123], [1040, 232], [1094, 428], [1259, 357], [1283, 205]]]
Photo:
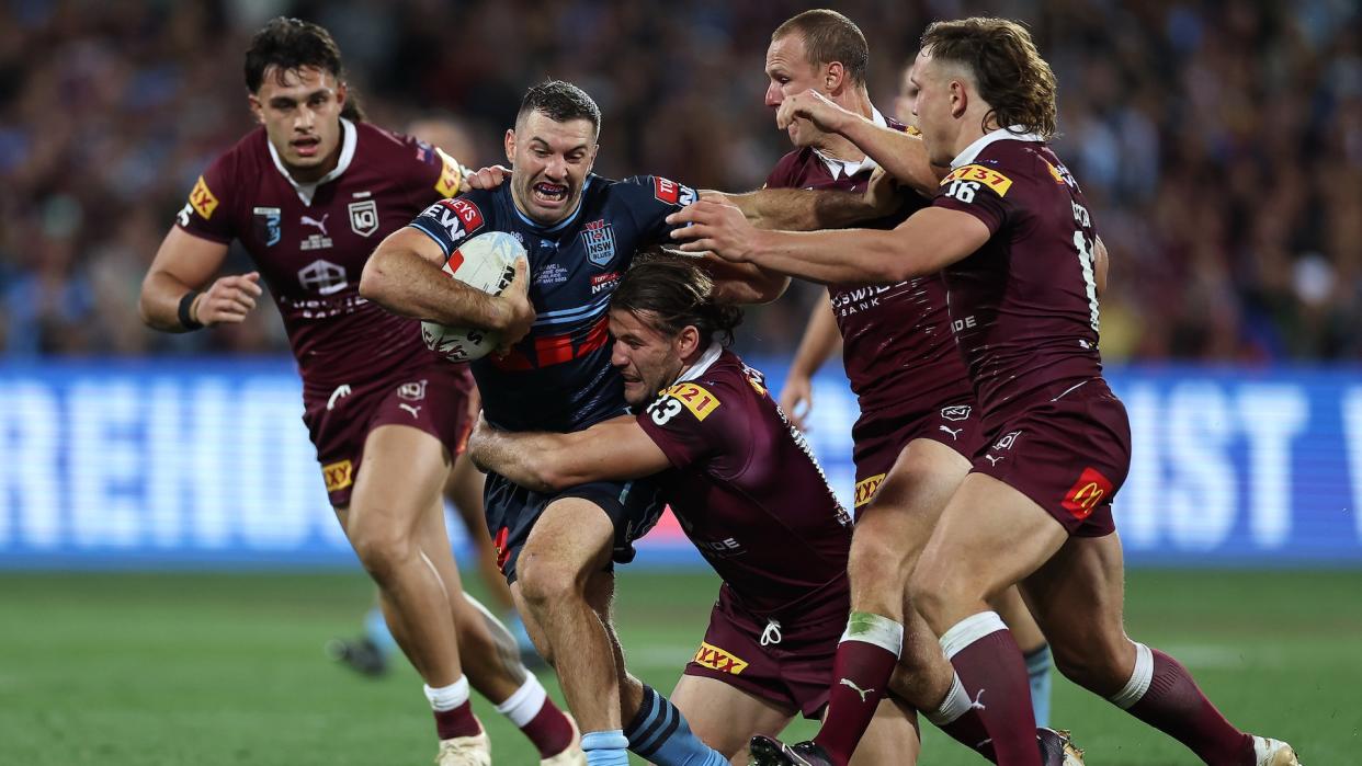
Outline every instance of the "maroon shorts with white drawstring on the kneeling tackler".
[[[685, 675], [720, 680], [782, 709], [819, 720], [828, 703], [832, 659], [847, 626], [851, 596], [839, 578], [817, 604], [771, 620], [742, 608], [729, 586], [710, 611], [710, 627]], [[761, 637], [767, 645], [761, 645]]]

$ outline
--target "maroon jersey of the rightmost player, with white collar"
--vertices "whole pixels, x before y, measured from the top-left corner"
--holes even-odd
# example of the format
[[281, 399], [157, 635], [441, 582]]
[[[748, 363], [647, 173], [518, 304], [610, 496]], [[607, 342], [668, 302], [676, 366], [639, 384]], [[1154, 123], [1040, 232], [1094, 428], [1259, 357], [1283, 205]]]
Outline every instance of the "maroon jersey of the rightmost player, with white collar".
[[932, 204], [968, 212], [993, 234], [945, 269], [986, 433], [1099, 378], [1096, 230], [1054, 152], [1035, 136], [994, 131], [952, 162]]

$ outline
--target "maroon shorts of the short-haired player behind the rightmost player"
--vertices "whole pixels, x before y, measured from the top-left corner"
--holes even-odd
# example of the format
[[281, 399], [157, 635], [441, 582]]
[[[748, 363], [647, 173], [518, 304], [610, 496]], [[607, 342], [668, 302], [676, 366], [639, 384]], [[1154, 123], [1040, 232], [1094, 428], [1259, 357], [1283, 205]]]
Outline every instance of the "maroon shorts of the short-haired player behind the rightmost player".
[[903, 448], [913, 439], [932, 439], [974, 460], [983, 446], [974, 396], [929, 410], [877, 410], [862, 412], [851, 426], [851, 460], [855, 463], [855, 510], [874, 498]]

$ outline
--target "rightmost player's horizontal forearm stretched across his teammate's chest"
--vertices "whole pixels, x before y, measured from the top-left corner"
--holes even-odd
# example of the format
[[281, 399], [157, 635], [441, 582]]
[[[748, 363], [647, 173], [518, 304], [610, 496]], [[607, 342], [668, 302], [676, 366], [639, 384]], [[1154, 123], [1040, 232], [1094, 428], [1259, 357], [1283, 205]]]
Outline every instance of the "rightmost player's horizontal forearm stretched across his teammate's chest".
[[823, 284], [893, 284], [913, 276], [896, 231], [759, 231], [746, 257], [756, 265]]

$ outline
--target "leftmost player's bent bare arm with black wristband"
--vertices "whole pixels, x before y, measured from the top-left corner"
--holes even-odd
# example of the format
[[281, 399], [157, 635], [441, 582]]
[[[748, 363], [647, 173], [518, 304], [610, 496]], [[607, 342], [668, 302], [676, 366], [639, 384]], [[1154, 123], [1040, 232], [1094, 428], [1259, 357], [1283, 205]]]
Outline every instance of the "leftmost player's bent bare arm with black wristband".
[[225, 242], [172, 227], [142, 280], [142, 321], [161, 332], [244, 321], [263, 293], [257, 272], [219, 278], [200, 293], [226, 257]]

